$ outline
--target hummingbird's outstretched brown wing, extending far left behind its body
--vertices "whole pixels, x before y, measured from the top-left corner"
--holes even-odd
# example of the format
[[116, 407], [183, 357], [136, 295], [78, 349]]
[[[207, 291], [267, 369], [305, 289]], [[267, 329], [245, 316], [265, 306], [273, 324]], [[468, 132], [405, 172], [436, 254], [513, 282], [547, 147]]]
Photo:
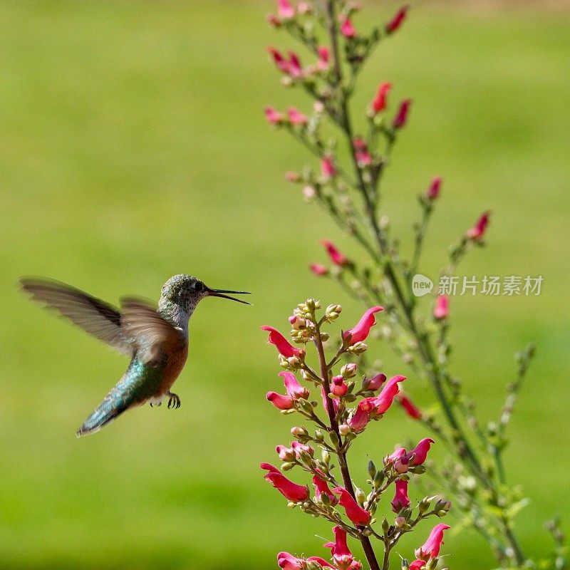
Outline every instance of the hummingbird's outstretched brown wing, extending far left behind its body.
[[60, 281], [30, 277], [20, 279], [20, 284], [32, 299], [57, 309], [100, 341], [133, 356], [135, 347], [123, 333], [120, 313], [113, 305]]

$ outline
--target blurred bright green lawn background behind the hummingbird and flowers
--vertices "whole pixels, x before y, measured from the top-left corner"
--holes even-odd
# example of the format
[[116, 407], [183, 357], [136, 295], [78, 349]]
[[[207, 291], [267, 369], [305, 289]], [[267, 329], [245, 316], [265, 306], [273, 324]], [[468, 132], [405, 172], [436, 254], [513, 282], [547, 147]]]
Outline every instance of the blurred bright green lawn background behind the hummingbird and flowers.
[[[363, 4], [356, 26], [396, 7]], [[264, 400], [280, 382], [259, 326], [286, 331], [307, 296], [343, 303], [338, 326], [351, 326], [361, 307], [307, 266], [324, 261], [324, 237], [358, 251], [284, 181], [311, 159], [267, 127], [262, 108], [307, 101], [279, 87], [264, 51], [291, 46], [264, 23], [272, 9], [0, 3], [2, 569], [242, 570], [276, 567], [282, 549], [326, 554], [330, 525], [289, 511], [261, 479], [258, 464], [289, 442], [291, 418]], [[452, 299], [455, 371], [484, 420], [502, 404], [513, 353], [537, 343], [507, 452], [509, 480], [532, 499], [518, 528], [535, 555], [549, 551], [542, 521], [568, 507], [569, 24], [563, 6], [539, 2], [415, 3], [356, 97], [364, 110], [391, 81], [393, 102], [414, 100], [384, 186], [404, 244], [415, 196], [432, 176], [445, 180], [423, 273], [437, 275], [449, 244], [489, 208], [489, 247], [460, 274], [544, 277], [536, 297]], [[139, 408], [76, 440], [125, 359], [31, 304], [18, 277], [53, 276], [116, 302], [157, 299], [180, 272], [253, 291], [255, 306], [199, 306], [180, 410]], [[388, 374], [405, 372], [385, 346], [372, 348]], [[430, 403], [419, 380], [407, 388]], [[373, 427], [354, 453], [356, 482], [366, 452], [379, 461], [423, 435], [397, 408]], [[455, 569], [493, 564], [468, 532], [450, 534], [445, 551]]]

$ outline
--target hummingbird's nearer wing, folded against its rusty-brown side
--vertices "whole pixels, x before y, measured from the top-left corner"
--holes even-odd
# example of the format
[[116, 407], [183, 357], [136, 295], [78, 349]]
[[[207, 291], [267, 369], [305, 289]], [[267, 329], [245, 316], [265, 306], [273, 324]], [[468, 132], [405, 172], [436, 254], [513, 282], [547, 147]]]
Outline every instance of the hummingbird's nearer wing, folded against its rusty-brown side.
[[125, 297], [120, 301], [120, 326], [135, 344], [137, 356], [143, 363], [158, 366], [168, 354], [179, 351], [186, 337], [156, 309], [141, 299]]

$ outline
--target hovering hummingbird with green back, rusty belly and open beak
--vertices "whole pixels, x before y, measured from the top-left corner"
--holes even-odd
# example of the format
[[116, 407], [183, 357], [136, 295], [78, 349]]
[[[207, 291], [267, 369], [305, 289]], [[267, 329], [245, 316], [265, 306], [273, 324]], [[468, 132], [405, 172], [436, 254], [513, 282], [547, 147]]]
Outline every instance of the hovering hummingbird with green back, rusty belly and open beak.
[[97, 432], [129, 408], [150, 402], [160, 405], [168, 396], [168, 408], [180, 408], [180, 398], [170, 391], [188, 356], [188, 321], [198, 301], [248, 291], [210, 289], [190, 275], [175, 275], [162, 286], [158, 309], [135, 297], [113, 305], [60, 281], [22, 278], [21, 287], [33, 299], [57, 309], [100, 341], [130, 356], [123, 378], [85, 420], [77, 437]]

